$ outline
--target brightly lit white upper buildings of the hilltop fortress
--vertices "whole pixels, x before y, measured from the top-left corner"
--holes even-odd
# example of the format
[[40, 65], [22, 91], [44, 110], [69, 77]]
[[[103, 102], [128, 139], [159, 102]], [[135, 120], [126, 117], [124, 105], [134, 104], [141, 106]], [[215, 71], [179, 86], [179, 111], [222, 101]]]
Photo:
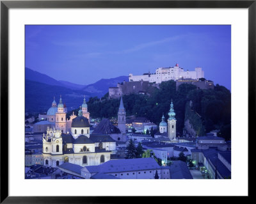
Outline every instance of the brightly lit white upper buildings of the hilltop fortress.
[[129, 74], [129, 81], [148, 81], [160, 84], [162, 81], [176, 81], [177, 79], [180, 79], [182, 77], [191, 79], [204, 78], [204, 71], [202, 70], [201, 67], [196, 67], [195, 71], [184, 71], [184, 68], [179, 67], [179, 65], [176, 63], [175, 67], [157, 68], [156, 73], [154, 74]]

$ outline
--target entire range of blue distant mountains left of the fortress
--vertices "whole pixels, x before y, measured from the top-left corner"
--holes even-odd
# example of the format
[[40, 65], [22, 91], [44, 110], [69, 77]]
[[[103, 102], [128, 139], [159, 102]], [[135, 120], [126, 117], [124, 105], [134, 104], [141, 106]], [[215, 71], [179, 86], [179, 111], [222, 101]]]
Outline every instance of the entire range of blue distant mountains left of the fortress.
[[103, 97], [108, 93], [110, 86], [116, 86], [118, 82], [129, 81], [128, 77], [120, 76], [112, 79], [100, 79], [99, 81], [84, 86], [68, 81], [57, 81], [46, 74], [41, 74], [25, 68], [25, 95], [26, 112], [44, 112], [51, 107], [53, 97], [58, 102], [62, 95], [63, 102], [68, 110], [77, 109], [83, 103], [83, 95], [86, 100], [90, 97]]

